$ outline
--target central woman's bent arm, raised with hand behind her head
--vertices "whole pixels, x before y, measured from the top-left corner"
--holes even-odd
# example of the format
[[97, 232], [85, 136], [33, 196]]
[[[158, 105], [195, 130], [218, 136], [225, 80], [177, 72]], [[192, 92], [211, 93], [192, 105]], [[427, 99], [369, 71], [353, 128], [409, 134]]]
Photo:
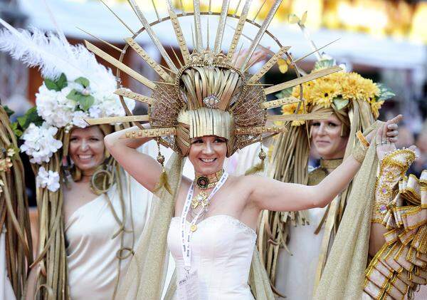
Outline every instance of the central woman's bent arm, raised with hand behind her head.
[[133, 130], [138, 130], [137, 126], [106, 135], [105, 147], [137, 182], [153, 192], [162, 173], [162, 166], [153, 157], [137, 151], [139, 146], [152, 138], [123, 138]]

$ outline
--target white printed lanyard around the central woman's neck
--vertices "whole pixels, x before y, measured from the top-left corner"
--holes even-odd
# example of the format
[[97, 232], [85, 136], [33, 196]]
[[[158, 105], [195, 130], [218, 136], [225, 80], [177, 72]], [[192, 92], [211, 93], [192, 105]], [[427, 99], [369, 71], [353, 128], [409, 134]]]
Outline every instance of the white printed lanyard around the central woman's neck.
[[[211, 202], [212, 197], [218, 192], [218, 190], [223, 186], [224, 182], [226, 182], [228, 178], [228, 173], [223, 172], [223, 175], [219, 179], [218, 183], [215, 185], [214, 190], [212, 190], [211, 195], [207, 198], [207, 202]], [[194, 217], [194, 219], [191, 221], [189, 229], [185, 230], [186, 227], [186, 216], [190, 211], [191, 207], [191, 200], [193, 200], [194, 195], [194, 183], [191, 183], [189, 192], [187, 192], [186, 200], [184, 203], [184, 208], [181, 213], [181, 251], [182, 256], [184, 257], [184, 267], [186, 271], [189, 271], [191, 269], [191, 236], [193, 232], [191, 231], [191, 227], [193, 227], [197, 219], [199, 219], [201, 213], [203, 212], [203, 209], [200, 210], [200, 212]]]

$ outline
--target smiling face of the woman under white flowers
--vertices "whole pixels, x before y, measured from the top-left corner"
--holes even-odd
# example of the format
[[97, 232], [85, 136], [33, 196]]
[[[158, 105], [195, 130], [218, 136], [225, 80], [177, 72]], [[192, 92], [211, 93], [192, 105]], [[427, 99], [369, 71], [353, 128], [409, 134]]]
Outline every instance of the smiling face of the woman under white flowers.
[[105, 156], [104, 135], [100, 128], [75, 128], [70, 134], [68, 152], [84, 175], [92, 175]]

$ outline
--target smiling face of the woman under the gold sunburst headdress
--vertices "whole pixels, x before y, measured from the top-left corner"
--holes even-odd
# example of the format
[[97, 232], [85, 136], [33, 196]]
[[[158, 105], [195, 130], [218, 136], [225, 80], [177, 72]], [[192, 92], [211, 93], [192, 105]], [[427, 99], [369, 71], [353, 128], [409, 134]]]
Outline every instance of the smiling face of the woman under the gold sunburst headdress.
[[210, 175], [222, 170], [226, 154], [225, 138], [208, 135], [191, 139], [189, 160], [197, 175]]

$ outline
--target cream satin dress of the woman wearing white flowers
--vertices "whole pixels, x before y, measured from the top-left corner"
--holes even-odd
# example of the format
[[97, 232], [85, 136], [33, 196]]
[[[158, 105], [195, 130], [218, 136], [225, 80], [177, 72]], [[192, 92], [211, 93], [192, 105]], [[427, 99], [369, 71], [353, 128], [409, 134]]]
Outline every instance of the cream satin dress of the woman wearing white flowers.
[[[140, 149], [149, 155], [157, 155], [154, 142]], [[122, 172], [123, 200], [125, 202], [125, 233], [112, 238], [120, 224], [112, 214], [109, 201], [118, 219], [122, 220], [122, 205], [117, 183], [103, 195], [75, 210], [65, 220], [65, 238], [68, 263], [68, 282], [71, 299], [112, 299], [115, 281], [125, 276], [132, 255], [117, 259], [122, 235], [121, 256], [130, 254], [141, 237], [148, 219], [152, 194], [139, 185], [130, 175]], [[120, 267], [119, 267], [120, 264]]]

